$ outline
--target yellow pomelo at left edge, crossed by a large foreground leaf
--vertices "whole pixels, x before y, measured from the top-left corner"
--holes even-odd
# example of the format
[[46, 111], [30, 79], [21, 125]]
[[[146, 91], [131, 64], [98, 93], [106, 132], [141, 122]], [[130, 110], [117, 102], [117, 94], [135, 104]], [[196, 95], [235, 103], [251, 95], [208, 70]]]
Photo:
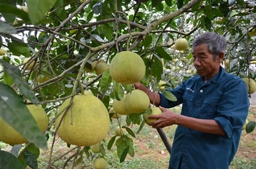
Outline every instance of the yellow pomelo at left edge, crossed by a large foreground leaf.
[[[36, 123], [38, 124], [39, 128], [42, 131], [45, 131], [48, 126], [48, 117], [44, 109], [39, 105], [36, 106], [35, 104], [28, 104], [26, 106], [30, 114], [36, 120]], [[0, 140], [10, 145], [22, 144], [22, 143], [28, 142], [25, 138], [23, 138], [20, 135], [20, 133], [18, 133], [8, 123], [6, 123], [1, 117], [0, 117]]]

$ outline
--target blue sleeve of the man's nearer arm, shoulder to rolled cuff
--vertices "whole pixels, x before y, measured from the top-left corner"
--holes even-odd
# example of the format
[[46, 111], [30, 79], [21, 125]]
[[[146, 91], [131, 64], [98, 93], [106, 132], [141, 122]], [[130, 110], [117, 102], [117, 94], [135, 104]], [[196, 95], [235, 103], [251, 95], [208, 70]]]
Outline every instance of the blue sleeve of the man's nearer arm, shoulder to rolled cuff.
[[235, 80], [223, 88], [224, 93], [218, 105], [218, 116], [214, 120], [225, 131], [229, 139], [238, 130], [242, 130], [249, 111], [249, 98], [246, 84]]

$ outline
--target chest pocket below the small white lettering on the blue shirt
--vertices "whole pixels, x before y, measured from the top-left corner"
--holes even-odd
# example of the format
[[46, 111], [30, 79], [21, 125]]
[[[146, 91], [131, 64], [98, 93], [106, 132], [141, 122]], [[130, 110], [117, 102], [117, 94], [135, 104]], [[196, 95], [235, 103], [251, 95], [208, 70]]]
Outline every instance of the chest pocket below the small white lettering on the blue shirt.
[[194, 101], [195, 101], [195, 94], [185, 92], [183, 94], [183, 103], [182, 103], [182, 111], [181, 115], [190, 116], [191, 112], [194, 110]]

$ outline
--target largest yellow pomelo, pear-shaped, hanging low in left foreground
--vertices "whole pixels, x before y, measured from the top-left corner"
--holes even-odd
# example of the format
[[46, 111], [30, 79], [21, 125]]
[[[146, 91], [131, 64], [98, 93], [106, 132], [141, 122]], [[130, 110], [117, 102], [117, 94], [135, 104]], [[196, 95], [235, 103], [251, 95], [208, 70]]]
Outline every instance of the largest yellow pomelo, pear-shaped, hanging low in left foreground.
[[[60, 106], [58, 114], [70, 103], [70, 98]], [[75, 95], [72, 106], [62, 120], [58, 130], [60, 138], [76, 146], [91, 146], [105, 138], [109, 131], [110, 119], [104, 104], [93, 95]], [[62, 115], [56, 119], [60, 123]], [[72, 119], [72, 124], [71, 124]]]

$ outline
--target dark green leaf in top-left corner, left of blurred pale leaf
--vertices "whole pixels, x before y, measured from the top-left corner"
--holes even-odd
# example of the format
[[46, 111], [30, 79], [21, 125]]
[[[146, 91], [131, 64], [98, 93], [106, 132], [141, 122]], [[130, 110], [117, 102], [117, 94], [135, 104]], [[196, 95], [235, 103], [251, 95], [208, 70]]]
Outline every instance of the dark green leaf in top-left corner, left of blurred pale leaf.
[[9, 14], [6, 17], [9, 17], [10, 15], [12, 15], [15, 19], [15, 17], [18, 17], [20, 19], [22, 19], [25, 22], [29, 22], [29, 17], [28, 17], [28, 13], [18, 9], [17, 7], [13, 6], [13, 5], [7, 5], [7, 4], [3, 4], [0, 3], [0, 13], [2, 14]]

